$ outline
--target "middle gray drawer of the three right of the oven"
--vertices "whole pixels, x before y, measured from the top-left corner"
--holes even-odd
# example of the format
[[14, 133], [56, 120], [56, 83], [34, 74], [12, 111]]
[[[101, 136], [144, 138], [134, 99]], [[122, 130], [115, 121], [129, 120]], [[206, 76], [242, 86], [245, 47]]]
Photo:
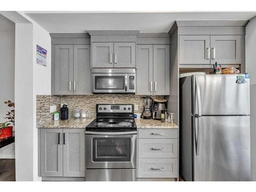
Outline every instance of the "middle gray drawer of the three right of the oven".
[[177, 158], [178, 139], [139, 139], [139, 158]]

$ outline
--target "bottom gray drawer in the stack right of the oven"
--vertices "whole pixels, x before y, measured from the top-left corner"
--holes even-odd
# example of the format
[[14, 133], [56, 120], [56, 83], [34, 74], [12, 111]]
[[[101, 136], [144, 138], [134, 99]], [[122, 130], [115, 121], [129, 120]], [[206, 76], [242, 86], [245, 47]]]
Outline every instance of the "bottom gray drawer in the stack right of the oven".
[[177, 159], [139, 159], [139, 178], [178, 177]]

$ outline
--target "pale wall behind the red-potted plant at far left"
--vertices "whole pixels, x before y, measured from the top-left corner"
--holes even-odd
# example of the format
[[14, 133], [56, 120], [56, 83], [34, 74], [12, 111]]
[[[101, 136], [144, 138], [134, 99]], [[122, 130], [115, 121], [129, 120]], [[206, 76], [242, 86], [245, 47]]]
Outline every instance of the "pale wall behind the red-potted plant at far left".
[[[14, 102], [15, 24], [0, 14], [0, 122], [11, 110], [4, 102]], [[14, 159], [14, 143], [0, 148], [0, 159]]]

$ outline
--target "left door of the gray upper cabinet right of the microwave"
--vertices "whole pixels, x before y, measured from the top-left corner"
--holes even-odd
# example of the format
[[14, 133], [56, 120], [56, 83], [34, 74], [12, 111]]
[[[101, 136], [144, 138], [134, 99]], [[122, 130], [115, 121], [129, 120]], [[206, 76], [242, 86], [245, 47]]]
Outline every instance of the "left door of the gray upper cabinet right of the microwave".
[[153, 94], [153, 45], [137, 45], [136, 95]]

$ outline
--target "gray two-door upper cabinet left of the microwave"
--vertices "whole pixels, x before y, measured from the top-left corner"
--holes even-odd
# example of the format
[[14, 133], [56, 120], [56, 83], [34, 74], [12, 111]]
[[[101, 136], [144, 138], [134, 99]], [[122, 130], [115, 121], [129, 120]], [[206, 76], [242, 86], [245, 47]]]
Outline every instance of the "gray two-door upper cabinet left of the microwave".
[[54, 94], [92, 94], [90, 45], [55, 45]]

